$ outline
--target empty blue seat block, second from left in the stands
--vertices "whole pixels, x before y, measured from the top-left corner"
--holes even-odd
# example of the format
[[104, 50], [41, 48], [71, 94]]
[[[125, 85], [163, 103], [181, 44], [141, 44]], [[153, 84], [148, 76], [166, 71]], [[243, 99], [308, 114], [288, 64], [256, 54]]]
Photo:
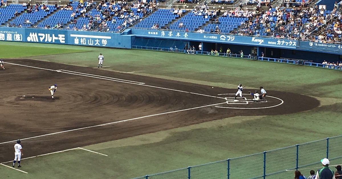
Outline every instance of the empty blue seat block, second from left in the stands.
[[29, 21], [32, 24], [34, 24], [34, 23], [37, 23], [38, 20], [41, 20], [42, 18], [50, 14], [52, 11], [56, 10], [56, 8], [53, 5], [47, 5], [47, 6], [50, 9], [49, 12], [45, 12], [44, 10], [39, 9], [38, 12], [32, 11], [32, 13], [23, 13], [22, 15], [13, 19], [10, 23], [11, 24], [14, 23], [16, 26], [21, 24], [23, 27], [30, 27], [31, 24], [24, 24], [24, 19], [29, 19]]

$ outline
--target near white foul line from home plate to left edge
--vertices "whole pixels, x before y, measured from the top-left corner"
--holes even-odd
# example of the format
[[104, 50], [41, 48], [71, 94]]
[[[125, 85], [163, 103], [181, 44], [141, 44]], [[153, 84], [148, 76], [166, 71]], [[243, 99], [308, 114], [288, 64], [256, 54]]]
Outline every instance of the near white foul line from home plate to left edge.
[[[166, 112], [166, 113], [159, 113], [159, 114], [153, 114], [153, 115], [148, 115], [148, 116], [142, 116], [142, 117], [137, 117], [137, 118], [132, 118], [132, 119], [126, 119], [126, 120], [121, 120], [121, 121], [115, 121], [115, 122], [109, 122], [109, 123], [104, 123], [104, 124], [92, 125], [92, 126], [88, 126], [88, 127], [84, 127], [84, 128], [77, 128], [77, 129], [71, 129], [71, 130], [67, 130], [67, 131], [60, 131], [60, 132], [54, 132], [54, 133], [50, 133], [50, 134], [44, 134], [44, 135], [38, 135], [38, 136], [23, 138], [23, 139], [21, 139], [21, 140], [27, 140], [27, 139], [32, 139], [32, 138], [37, 138], [37, 137], [43, 137], [43, 136], [48, 136], [48, 135], [54, 135], [54, 134], [60, 134], [60, 133], [71, 132], [71, 131], [78, 131], [78, 130], [82, 130], [82, 129], [89, 129], [89, 128], [94, 128], [94, 127], [98, 127], [98, 126], [116, 124], [116, 123], [120, 123], [120, 122], [132, 121], [132, 120], [136, 120], [136, 119], [142, 119], [142, 118], [147, 118], [147, 117], [152, 117], [152, 116], [159, 116], [159, 115], [170, 114], [170, 113], [177, 113], [177, 112], [181, 112], [181, 111], [186, 111], [186, 110], [191, 110], [191, 109], [197, 109], [197, 108], [202, 108], [202, 107], [208, 107], [208, 106], [215, 106], [215, 105], [225, 104], [225, 103], [226, 103], [226, 102], [224, 102], [224, 103], [217, 103], [217, 104], [210, 104], [210, 105], [205, 105], [205, 106], [199, 106], [199, 107], [187, 108], [187, 109], [182, 109], [182, 110], [170, 111], [170, 112]], [[6, 142], [2, 142], [2, 143], [0, 143], [0, 144], [12, 143], [12, 142], [15, 142], [15, 141], [16, 141], [16, 140], [6, 141]], [[70, 149], [70, 150], [72, 150], [72, 149]]]

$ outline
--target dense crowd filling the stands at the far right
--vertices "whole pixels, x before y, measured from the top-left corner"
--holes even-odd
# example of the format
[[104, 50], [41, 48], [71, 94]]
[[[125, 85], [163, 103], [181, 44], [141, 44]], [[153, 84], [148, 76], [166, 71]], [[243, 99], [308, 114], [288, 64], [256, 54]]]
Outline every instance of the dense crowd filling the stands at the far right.
[[[342, 15], [337, 4], [332, 11], [318, 9], [317, 6], [301, 6], [288, 9], [289, 3], [275, 6], [267, 11], [240, 11], [244, 17], [254, 18], [242, 22], [239, 35], [256, 35], [263, 33], [272, 38], [293, 40], [313, 40], [323, 43], [342, 42], [339, 37]], [[341, 8], [340, 8], [341, 11]], [[229, 16], [230, 13], [227, 13]]]

